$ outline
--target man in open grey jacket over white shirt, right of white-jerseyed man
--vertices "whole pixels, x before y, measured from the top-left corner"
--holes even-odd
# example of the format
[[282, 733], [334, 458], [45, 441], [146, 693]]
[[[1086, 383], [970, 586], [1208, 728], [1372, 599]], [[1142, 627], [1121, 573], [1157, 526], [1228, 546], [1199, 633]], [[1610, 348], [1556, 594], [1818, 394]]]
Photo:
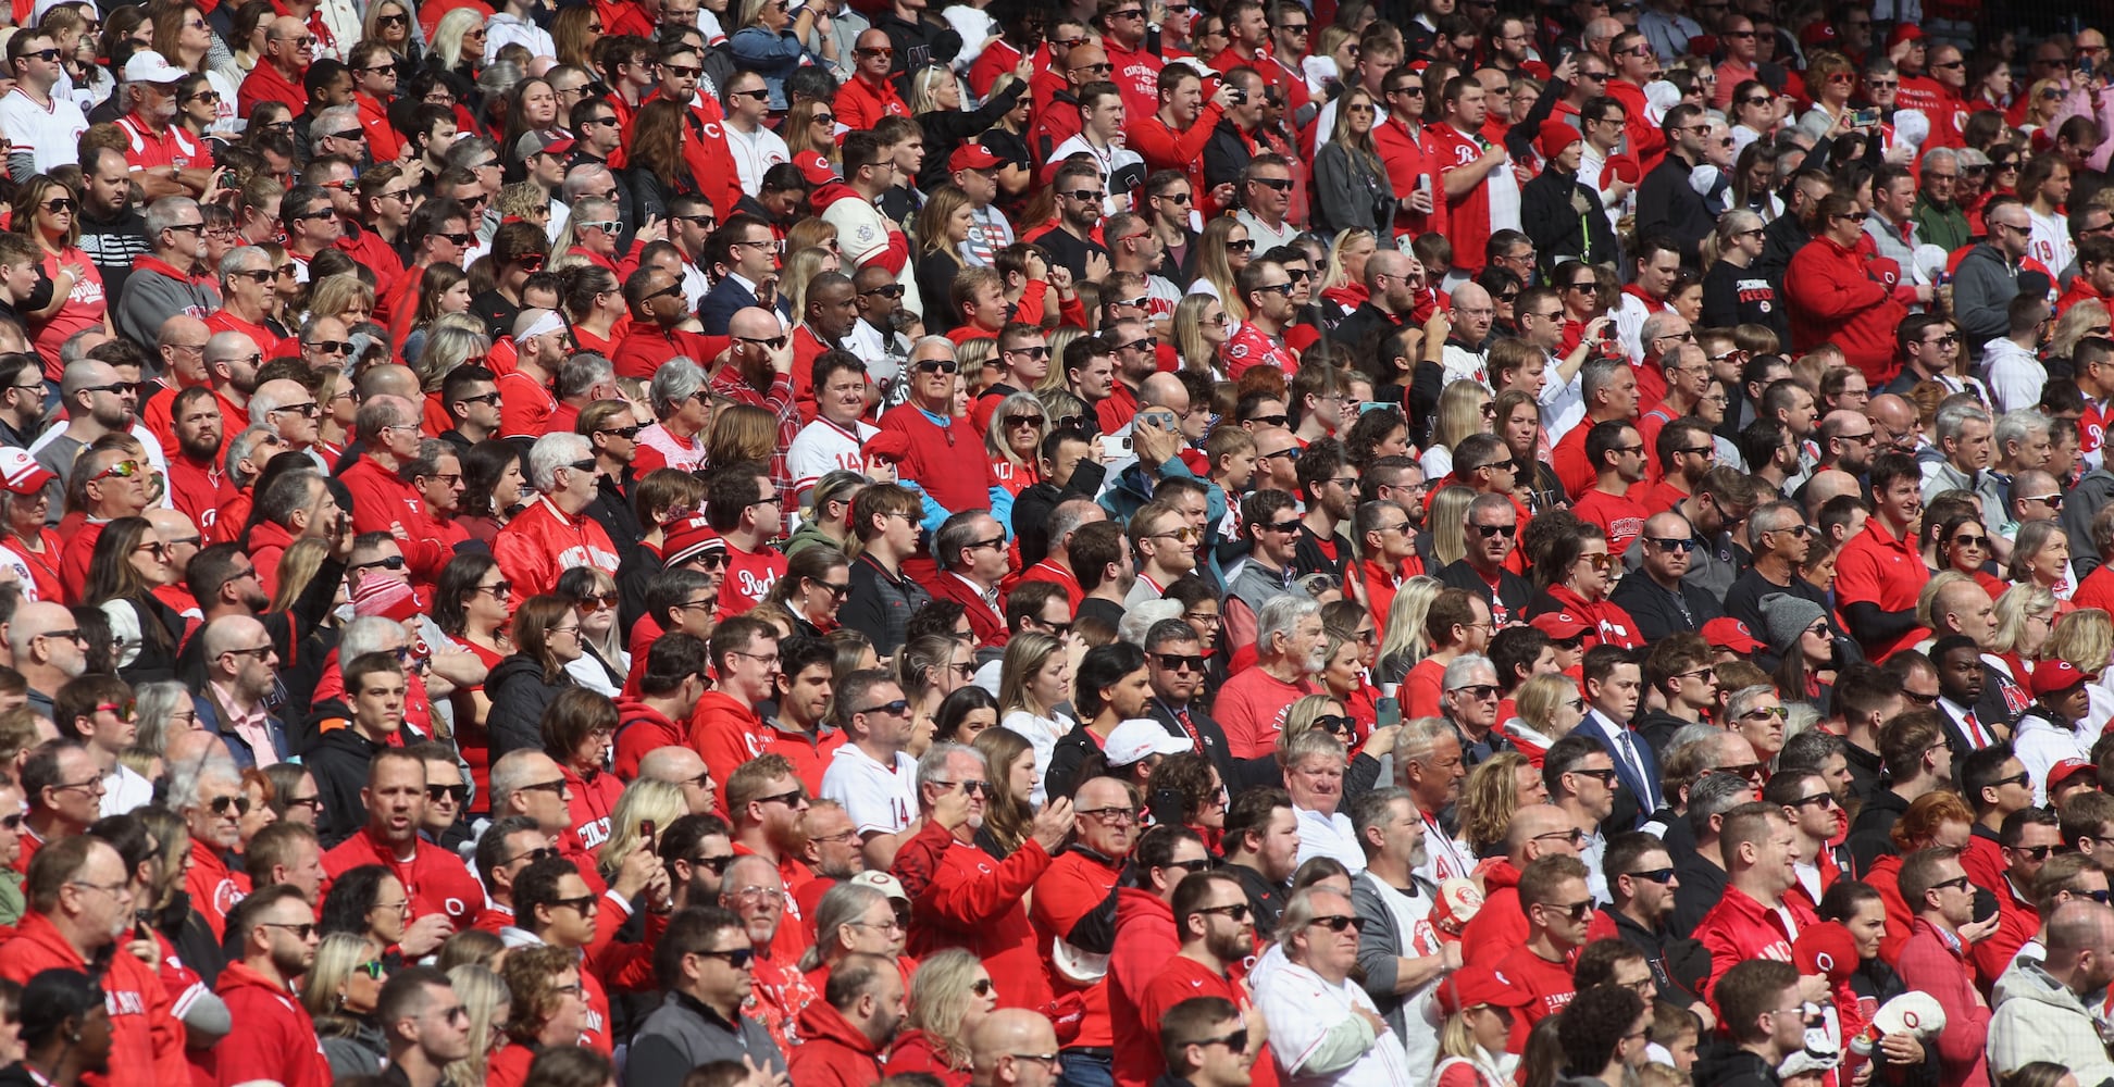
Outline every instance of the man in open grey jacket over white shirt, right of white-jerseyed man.
[[1461, 969], [1461, 941], [1440, 941], [1431, 924], [1438, 886], [1416, 873], [1427, 863], [1425, 821], [1408, 789], [1374, 789], [1351, 806], [1351, 827], [1366, 852], [1366, 871], [1351, 878], [1357, 914], [1359, 966], [1366, 994], [1380, 1007], [1389, 1030], [1410, 1047], [1410, 1066], [1438, 1057], [1438, 1036], [1410, 1032], [1406, 1007], [1433, 983]]

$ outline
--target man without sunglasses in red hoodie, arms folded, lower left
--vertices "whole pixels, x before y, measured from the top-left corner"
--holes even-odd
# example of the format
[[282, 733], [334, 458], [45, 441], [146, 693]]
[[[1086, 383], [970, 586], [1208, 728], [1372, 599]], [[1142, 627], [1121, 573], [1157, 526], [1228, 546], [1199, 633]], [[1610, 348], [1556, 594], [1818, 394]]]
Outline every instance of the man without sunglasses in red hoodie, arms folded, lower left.
[[[562, 780], [552, 768], [552, 778]], [[499, 776], [499, 768], [493, 768]], [[457, 928], [469, 928], [484, 909], [484, 888], [448, 850], [419, 837], [425, 816], [425, 761], [400, 749], [387, 749], [368, 763], [368, 787], [359, 797], [368, 806], [368, 825], [323, 854], [323, 871], [332, 880], [361, 865], [387, 865], [400, 873], [408, 895], [404, 939], [406, 956], [423, 956]], [[493, 808], [499, 789], [493, 787]]]

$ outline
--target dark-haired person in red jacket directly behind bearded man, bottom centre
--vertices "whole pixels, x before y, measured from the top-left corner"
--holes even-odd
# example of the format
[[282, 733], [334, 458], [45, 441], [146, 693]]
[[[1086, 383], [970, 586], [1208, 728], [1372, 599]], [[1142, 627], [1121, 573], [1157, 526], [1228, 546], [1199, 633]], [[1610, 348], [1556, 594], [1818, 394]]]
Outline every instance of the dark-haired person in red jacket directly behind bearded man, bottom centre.
[[1205, 867], [1209, 856], [1194, 831], [1154, 827], [1137, 837], [1131, 852], [1133, 871], [1144, 886], [1116, 888], [1116, 933], [1106, 983], [1116, 1087], [1146, 1087], [1163, 1066], [1158, 1021], [1148, 1024], [1139, 1009], [1146, 988], [1182, 952], [1173, 901], [1186, 878]]

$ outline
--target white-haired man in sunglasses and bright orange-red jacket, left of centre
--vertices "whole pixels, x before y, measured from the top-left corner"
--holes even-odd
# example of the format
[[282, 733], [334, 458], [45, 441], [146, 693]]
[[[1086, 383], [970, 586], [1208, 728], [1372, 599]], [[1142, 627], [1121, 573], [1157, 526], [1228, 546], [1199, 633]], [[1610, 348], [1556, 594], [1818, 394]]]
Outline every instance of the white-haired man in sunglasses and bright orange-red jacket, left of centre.
[[545, 434], [528, 448], [528, 482], [539, 497], [493, 539], [493, 558], [516, 598], [541, 596], [573, 567], [617, 573], [617, 546], [581, 510], [596, 499], [594, 448], [579, 434]]

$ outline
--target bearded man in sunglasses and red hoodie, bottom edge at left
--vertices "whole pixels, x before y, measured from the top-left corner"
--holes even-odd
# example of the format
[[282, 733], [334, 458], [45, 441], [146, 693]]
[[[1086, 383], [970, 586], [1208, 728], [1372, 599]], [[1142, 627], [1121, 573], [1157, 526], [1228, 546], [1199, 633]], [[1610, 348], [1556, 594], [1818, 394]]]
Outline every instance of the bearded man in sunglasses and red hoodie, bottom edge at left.
[[315, 909], [300, 888], [277, 884], [243, 899], [228, 931], [241, 958], [220, 971], [214, 992], [243, 1028], [214, 1047], [216, 1068], [228, 1083], [326, 1087], [330, 1060], [315, 1024], [294, 1002], [294, 983], [315, 964], [321, 941]]

